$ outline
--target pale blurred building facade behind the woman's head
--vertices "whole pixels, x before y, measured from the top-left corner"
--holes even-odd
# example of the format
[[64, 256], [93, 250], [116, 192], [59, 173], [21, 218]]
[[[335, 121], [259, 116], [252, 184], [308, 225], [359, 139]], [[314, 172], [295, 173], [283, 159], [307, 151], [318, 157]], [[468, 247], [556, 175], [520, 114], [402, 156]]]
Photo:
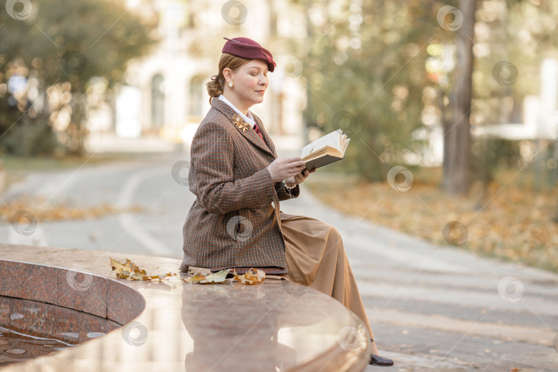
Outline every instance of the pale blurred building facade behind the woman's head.
[[242, 36], [271, 50], [278, 63], [268, 75], [264, 102], [251, 110], [278, 147], [302, 147], [306, 92], [299, 79], [302, 65], [288, 52], [289, 43], [306, 32], [303, 12], [287, 0], [127, 0], [126, 5], [156, 22], [158, 43], [151, 54], [128, 64], [112, 114], [101, 115], [112, 125], [96, 125], [99, 113], [91, 115], [92, 141], [158, 137], [189, 145], [210, 107], [205, 84], [218, 72], [223, 37]]

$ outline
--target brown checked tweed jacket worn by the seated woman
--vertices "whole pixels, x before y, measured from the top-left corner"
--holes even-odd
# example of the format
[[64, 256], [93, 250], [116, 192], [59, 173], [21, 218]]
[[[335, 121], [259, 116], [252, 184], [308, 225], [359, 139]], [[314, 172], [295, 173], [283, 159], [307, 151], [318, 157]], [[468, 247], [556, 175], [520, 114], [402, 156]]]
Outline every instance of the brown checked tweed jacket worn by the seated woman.
[[[234, 124], [236, 112], [218, 98], [194, 135], [189, 189], [196, 195], [183, 226], [181, 271], [194, 267], [287, 267], [280, 200], [289, 194], [266, 169], [277, 153], [254, 115], [262, 138], [248, 124]], [[238, 115], [237, 115], [238, 116]], [[291, 197], [300, 194], [300, 186]], [[275, 207], [273, 207], [272, 202]]]

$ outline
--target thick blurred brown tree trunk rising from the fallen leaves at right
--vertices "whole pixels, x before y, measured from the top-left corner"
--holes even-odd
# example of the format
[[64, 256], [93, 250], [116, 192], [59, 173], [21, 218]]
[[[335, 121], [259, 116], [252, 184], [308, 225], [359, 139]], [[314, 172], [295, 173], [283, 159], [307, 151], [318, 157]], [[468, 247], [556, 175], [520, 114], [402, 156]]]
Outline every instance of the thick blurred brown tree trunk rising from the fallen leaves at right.
[[467, 194], [469, 150], [471, 147], [471, 75], [473, 73], [473, 36], [477, 0], [459, 0], [463, 13], [455, 46], [455, 83], [449, 96], [451, 115], [444, 120], [444, 162], [442, 187], [450, 194]]

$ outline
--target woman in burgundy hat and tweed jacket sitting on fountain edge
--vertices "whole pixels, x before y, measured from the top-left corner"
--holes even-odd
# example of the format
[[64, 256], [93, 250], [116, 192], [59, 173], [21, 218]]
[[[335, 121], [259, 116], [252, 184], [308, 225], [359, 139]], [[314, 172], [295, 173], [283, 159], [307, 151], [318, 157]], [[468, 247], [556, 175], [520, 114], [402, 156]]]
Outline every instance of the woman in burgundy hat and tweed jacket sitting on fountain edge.
[[286, 269], [287, 278], [332, 296], [366, 324], [370, 364], [392, 365], [378, 356], [338, 230], [279, 209], [316, 169], [305, 169], [300, 157], [278, 158], [262, 121], [249, 111], [263, 101], [267, 72], [276, 66], [271, 52], [244, 37], [227, 39], [222, 52], [218, 74], [207, 83], [211, 109], [192, 141], [188, 180], [196, 201], [183, 227], [180, 270]]

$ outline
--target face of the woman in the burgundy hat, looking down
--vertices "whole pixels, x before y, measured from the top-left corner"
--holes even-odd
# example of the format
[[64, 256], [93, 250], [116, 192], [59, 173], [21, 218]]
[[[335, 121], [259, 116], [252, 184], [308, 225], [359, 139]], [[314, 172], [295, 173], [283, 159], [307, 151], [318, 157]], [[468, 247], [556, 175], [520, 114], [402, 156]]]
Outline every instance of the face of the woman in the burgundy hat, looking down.
[[[225, 73], [225, 78], [228, 78], [227, 75], [229, 74]], [[267, 63], [259, 59], [252, 59], [231, 71], [227, 81], [233, 83], [234, 86], [229, 88], [228, 85], [225, 85], [225, 89], [229, 90], [238, 103], [245, 108], [261, 103], [267, 89]]]

